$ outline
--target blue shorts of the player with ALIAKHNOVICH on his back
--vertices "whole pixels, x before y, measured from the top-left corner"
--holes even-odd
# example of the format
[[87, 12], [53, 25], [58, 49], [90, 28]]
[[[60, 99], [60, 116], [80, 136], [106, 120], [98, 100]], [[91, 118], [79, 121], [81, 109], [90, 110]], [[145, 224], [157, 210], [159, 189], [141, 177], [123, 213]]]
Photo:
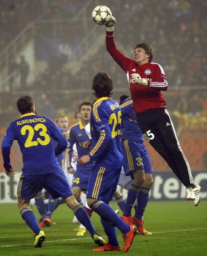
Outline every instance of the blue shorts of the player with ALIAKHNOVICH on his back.
[[52, 198], [66, 198], [72, 195], [63, 171], [42, 175], [22, 174], [18, 182], [17, 195], [21, 198], [31, 199], [42, 188], [45, 188]]

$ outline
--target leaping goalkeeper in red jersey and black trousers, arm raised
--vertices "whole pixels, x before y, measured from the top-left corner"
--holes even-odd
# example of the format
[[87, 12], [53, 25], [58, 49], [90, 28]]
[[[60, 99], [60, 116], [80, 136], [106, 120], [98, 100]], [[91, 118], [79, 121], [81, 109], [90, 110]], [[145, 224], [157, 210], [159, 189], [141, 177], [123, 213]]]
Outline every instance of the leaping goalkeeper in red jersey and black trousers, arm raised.
[[133, 51], [134, 59], [119, 52], [113, 41], [114, 24], [114, 17], [106, 24], [106, 49], [126, 73], [140, 129], [186, 187], [186, 199], [193, 200], [197, 206], [200, 186], [193, 184], [189, 163], [181, 150], [160, 92], [166, 91], [168, 86], [164, 70], [159, 64], [151, 62], [154, 49], [150, 44], [137, 44]]

